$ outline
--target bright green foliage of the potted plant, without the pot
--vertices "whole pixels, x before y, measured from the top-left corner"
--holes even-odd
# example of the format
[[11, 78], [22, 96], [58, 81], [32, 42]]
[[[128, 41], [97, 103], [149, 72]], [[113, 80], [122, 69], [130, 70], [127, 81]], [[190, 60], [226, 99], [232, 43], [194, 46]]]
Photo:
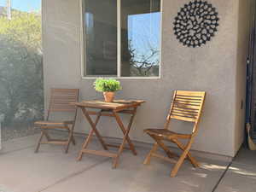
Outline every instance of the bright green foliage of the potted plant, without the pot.
[[99, 92], [114, 92], [121, 90], [120, 82], [116, 79], [96, 79], [94, 88]]

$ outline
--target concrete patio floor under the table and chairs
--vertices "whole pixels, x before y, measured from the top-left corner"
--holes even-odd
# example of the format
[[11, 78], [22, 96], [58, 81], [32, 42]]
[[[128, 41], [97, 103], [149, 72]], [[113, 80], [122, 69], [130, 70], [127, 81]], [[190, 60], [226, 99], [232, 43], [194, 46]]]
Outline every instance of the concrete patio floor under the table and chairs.
[[[143, 165], [150, 145], [137, 146], [137, 156], [124, 151], [118, 168], [113, 170], [110, 158], [84, 155], [83, 160], [76, 161], [82, 137], [76, 137], [77, 145], [71, 146], [68, 154], [61, 146], [52, 145], [44, 145], [34, 154], [37, 140], [38, 136], [31, 136], [3, 143], [0, 192], [256, 191], [256, 153], [246, 149], [231, 165], [198, 157], [201, 168], [195, 169], [186, 161], [177, 177], [171, 178], [172, 164], [152, 159], [151, 165]], [[96, 141], [90, 147], [100, 148]]]

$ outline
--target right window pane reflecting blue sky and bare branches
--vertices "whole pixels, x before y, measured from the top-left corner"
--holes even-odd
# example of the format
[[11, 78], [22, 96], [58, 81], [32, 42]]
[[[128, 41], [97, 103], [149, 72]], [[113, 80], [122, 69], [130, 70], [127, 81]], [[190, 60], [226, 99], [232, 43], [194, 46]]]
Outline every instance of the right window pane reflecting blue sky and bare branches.
[[128, 0], [121, 6], [122, 76], [158, 76], [160, 0]]

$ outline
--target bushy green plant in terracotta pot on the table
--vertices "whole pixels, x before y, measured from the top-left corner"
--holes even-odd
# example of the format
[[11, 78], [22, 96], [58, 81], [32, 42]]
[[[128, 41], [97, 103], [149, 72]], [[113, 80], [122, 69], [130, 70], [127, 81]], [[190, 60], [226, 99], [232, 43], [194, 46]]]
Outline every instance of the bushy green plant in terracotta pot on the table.
[[96, 91], [103, 92], [105, 102], [113, 102], [114, 92], [122, 89], [120, 82], [116, 79], [96, 79], [94, 88]]

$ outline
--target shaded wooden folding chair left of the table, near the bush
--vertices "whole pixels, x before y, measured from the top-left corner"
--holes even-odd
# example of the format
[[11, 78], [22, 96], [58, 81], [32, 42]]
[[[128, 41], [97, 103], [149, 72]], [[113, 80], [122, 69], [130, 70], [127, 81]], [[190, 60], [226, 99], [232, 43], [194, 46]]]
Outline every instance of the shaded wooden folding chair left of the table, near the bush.
[[[65, 152], [67, 153], [69, 144], [73, 142], [75, 145], [75, 140], [73, 137], [73, 129], [75, 126], [75, 121], [77, 117], [77, 107], [71, 105], [70, 102], [79, 102], [79, 89], [51, 89], [50, 90], [50, 99], [49, 99], [49, 109], [47, 113], [46, 120], [37, 121], [34, 123], [36, 127], [41, 129], [41, 135], [38, 140], [38, 145], [35, 150], [35, 153], [38, 152], [41, 144], [58, 144], [66, 146]], [[68, 112], [74, 113], [72, 120], [62, 120], [62, 121], [51, 121], [49, 116], [51, 113], [56, 112]], [[67, 130], [68, 138], [67, 139], [52, 139], [49, 137], [49, 130]], [[46, 138], [46, 142], [42, 142], [43, 137]]]

